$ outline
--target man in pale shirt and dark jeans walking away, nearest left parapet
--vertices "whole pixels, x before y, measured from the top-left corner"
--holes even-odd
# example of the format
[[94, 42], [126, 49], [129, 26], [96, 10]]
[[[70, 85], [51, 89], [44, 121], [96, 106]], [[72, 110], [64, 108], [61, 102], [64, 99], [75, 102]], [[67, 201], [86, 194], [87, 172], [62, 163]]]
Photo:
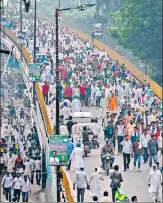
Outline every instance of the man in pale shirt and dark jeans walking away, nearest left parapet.
[[85, 189], [89, 189], [88, 175], [84, 171], [84, 167], [80, 167], [80, 171], [76, 173], [76, 179], [73, 185], [75, 190], [75, 185], [77, 188], [77, 202], [84, 202]]

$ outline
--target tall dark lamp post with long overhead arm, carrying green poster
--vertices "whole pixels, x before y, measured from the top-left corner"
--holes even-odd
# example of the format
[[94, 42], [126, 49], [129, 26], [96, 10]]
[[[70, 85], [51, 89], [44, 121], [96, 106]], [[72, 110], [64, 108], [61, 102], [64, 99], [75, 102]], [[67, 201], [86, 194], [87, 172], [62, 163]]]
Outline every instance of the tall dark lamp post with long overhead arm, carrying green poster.
[[[35, 0], [36, 1], [36, 0]], [[55, 133], [56, 135], [59, 135], [59, 86], [60, 86], [60, 75], [59, 75], [59, 50], [58, 50], [58, 42], [59, 42], [59, 23], [58, 23], [58, 17], [60, 11], [68, 11], [68, 10], [79, 10], [84, 11], [88, 7], [95, 6], [96, 4], [83, 4], [81, 6], [77, 6], [75, 8], [64, 8], [64, 9], [56, 9], [55, 12], [55, 19], [56, 19], [56, 126], [55, 126]], [[60, 0], [59, 0], [59, 6], [60, 6]], [[60, 179], [62, 177], [60, 166], [57, 166], [56, 168], [56, 175], [57, 175], [57, 202], [61, 201], [60, 198], [60, 192], [61, 192], [61, 185], [60, 185]]]

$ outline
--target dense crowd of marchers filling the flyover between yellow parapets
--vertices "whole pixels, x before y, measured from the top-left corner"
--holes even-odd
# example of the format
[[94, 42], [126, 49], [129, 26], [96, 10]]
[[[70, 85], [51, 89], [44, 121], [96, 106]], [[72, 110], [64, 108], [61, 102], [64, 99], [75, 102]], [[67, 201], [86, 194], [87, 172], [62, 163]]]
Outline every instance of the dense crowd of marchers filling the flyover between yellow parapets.
[[[7, 27], [14, 34], [17, 34], [20, 26], [19, 14], [16, 13], [15, 9], [9, 9], [6, 10], [6, 16], [8, 17]], [[32, 56], [32, 24], [29, 23], [30, 20], [32, 22], [32, 14], [25, 14], [23, 18], [23, 29], [27, 38], [25, 46]], [[56, 102], [54, 51], [56, 39], [54, 33], [55, 26], [52, 23], [46, 19], [37, 20], [37, 48], [46, 47], [45, 49], [47, 49], [46, 56], [42, 54], [40, 58], [37, 58], [37, 62], [42, 67], [40, 81], [42, 94], [47, 108], [50, 109], [51, 117], [54, 117]], [[84, 172], [84, 152], [83, 143], [80, 139], [80, 127], [77, 122], [72, 121], [72, 113], [80, 112], [83, 106], [99, 110], [100, 119], [92, 119], [89, 129], [94, 135], [100, 136], [100, 129], [102, 126], [104, 128], [106, 143], [102, 147], [101, 154], [99, 154], [101, 159], [103, 160], [102, 157], [106, 153], [110, 153], [115, 158], [115, 150], [117, 149], [117, 156], [122, 155], [123, 158], [124, 172], [127, 172], [131, 167], [131, 157], [133, 157], [134, 170], [137, 168], [141, 172], [143, 170], [143, 158], [144, 164], [149, 163], [149, 193], [152, 193], [154, 201], [159, 201], [162, 184], [162, 166], [159, 166], [159, 162], [163, 151], [162, 101], [154, 94], [150, 84], [146, 81], [140, 83], [126, 69], [125, 64], [119, 64], [105, 50], [98, 50], [92, 43], [69, 33], [65, 28], [59, 30], [59, 71], [60, 131], [63, 131], [60, 133], [69, 134], [68, 169], [70, 170], [72, 162], [72, 166], [76, 169], [74, 189], [76, 185], [77, 201], [84, 201], [85, 189], [90, 189], [93, 201], [137, 201], [136, 196], [129, 199], [120, 191], [121, 182], [125, 184], [125, 180], [123, 181], [122, 174], [119, 172], [119, 166], [114, 166], [114, 159], [111, 165], [111, 167], [114, 166], [114, 172], [110, 176], [112, 198], [110, 199], [108, 192], [105, 191], [104, 197], [99, 200], [100, 181], [103, 180], [103, 176], [96, 168], [95, 173], [88, 180], [87, 174]], [[102, 122], [100, 123], [100, 121]], [[22, 132], [22, 128], [17, 130], [16, 126], [14, 129], [16, 130], [12, 139], [15, 139], [13, 141], [15, 146], [16, 144], [19, 145], [19, 150], [17, 149], [18, 159], [23, 159], [23, 164], [20, 164], [21, 168], [25, 165], [28, 168], [30, 163], [36, 162], [36, 157], [39, 156], [38, 144], [32, 144], [33, 133], [37, 130], [31, 131], [30, 136], [25, 135], [23, 137], [22, 135], [19, 137], [18, 132], [20, 130]], [[82, 129], [82, 136], [85, 140], [89, 137], [85, 128]], [[3, 140], [3, 142], [6, 141]], [[8, 152], [11, 151], [11, 148], [13, 150], [13, 146], [11, 148], [9, 146], [7, 145]], [[28, 155], [31, 153], [31, 148], [35, 149], [36, 154]], [[24, 160], [26, 156], [30, 159]], [[16, 164], [16, 169], [17, 165], [20, 166]], [[101, 165], [103, 167], [103, 162]], [[26, 175], [30, 177], [31, 181], [34, 169], [31, 171], [29, 169], [30, 167]], [[16, 180], [18, 179], [19, 176]], [[14, 183], [14, 179], [11, 178], [11, 180]], [[6, 191], [8, 194], [10, 190], [7, 189]], [[17, 194], [17, 191], [15, 193]]]

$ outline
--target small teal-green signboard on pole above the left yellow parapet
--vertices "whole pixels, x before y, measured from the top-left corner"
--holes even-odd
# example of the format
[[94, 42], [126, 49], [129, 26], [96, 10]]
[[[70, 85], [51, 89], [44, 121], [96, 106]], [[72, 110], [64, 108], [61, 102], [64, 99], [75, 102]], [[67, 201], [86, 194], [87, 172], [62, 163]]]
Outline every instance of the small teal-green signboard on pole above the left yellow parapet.
[[29, 77], [31, 80], [34, 78], [35, 81], [41, 80], [41, 64], [40, 63], [30, 63], [29, 68]]

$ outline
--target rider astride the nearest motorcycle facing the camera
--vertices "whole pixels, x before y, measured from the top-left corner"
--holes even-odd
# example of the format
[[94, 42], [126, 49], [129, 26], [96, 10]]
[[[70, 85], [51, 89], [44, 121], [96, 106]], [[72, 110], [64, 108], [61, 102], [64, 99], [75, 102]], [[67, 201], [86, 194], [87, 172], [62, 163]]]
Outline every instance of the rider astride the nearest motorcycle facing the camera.
[[111, 163], [110, 163], [110, 168], [112, 168], [113, 163], [114, 163], [114, 146], [111, 140], [107, 140], [106, 144], [103, 146], [101, 150], [101, 162], [102, 162], [102, 167], [104, 168], [104, 160], [106, 158], [106, 154], [111, 155]]

